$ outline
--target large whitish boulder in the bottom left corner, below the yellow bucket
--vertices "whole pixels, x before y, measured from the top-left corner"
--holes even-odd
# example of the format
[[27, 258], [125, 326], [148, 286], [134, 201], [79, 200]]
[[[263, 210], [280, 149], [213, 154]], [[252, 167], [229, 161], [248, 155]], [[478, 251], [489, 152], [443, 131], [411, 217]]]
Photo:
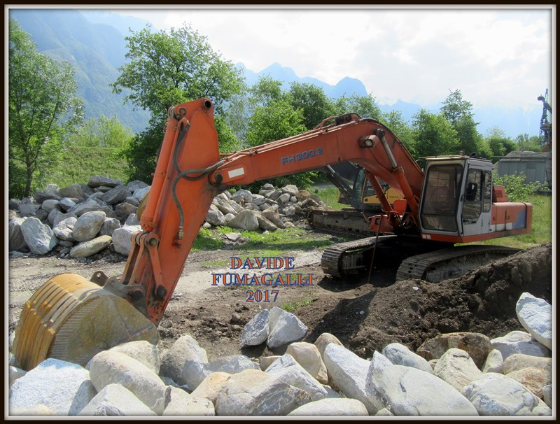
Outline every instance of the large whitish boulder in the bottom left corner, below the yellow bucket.
[[[28, 218], [29, 219], [29, 218]], [[77, 415], [95, 396], [87, 369], [48, 358], [10, 386], [10, 414], [44, 405], [55, 415]]]

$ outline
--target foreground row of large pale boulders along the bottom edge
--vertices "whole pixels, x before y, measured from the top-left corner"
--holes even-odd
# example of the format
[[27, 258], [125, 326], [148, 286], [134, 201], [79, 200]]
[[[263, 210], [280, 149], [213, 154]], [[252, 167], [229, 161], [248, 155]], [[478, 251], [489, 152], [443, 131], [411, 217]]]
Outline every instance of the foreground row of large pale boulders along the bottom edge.
[[[272, 323], [273, 331], [283, 327], [287, 340], [303, 337], [301, 326], [291, 317], [281, 318], [280, 311], [260, 314], [247, 324], [253, 327], [245, 336]], [[477, 333], [441, 334], [426, 340], [416, 353], [393, 343], [374, 352], [371, 360], [358, 357], [328, 333], [314, 344], [288, 341], [286, 353], [262, 358], [260, 365], [244, 355], [209, 361], [189, 335], [161, 353], [146, 341], [134, 341], [98, 353], [85, 368], [55, 359], [27, 373], [10, 367], [9, 411], [86, 416], [550, 416], [552, 308], [524, 293], [517, 314], [527, 332], [492, 340]], [[261, 343], [269, 334], [261, 335]]]

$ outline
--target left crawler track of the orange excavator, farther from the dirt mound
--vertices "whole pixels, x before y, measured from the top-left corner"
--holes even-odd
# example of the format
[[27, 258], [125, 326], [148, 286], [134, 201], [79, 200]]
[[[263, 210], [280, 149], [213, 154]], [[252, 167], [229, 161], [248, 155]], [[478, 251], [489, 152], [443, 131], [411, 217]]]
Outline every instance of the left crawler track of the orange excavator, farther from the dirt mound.
[[333, 244], [323, 252], [321, 267], [325, 274], [334, 278], [358, 274], [370, 267], [370, 263], [367, 261], [367, 257], [369, 257], [367, 250], [373, 250], [376, 243], [379, 245], [396, 237], [395, 235], [367, 237]]

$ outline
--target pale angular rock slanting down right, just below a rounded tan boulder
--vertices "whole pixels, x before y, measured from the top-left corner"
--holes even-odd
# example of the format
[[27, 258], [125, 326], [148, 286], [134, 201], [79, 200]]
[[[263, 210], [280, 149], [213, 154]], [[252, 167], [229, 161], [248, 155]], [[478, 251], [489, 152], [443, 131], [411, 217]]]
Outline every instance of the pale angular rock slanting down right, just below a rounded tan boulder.
[[266, 372], [272, 374], [284, 383], [290, 384], [290, 386], [304, 390], [311, 396], [311, 400], [321, 400], [327, 397], [327, 390], [323, 388], [321, 383], [314, 379], [314, 377], [288, 353], [274, 361], [272, 365], [267, 368]]

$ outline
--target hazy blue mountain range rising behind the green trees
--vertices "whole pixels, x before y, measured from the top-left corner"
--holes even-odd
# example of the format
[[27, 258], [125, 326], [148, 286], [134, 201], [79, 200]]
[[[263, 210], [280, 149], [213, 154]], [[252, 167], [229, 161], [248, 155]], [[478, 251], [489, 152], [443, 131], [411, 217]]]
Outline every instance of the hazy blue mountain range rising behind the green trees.
[[[113, 93], [109, 84], [118, 78], [118, 68], [125, 63], [125, 36], [130, 34], [130, 29], [139, 31], [144, 28], [148, 21], [107, 10], [87, 10], [87, 13], [81, 13], [80, 10], [72, 9], [10, 9], [9, 15], [31, 35], [39, 52], [73, 65], [78, 95], [84, 99], [86, 118], [116, 115], [134, 132], [146, 128], [148, 112], [134, 110], [132, 105], [123, 104], [125, 93]], [[329, 85], [316, 78], [297, 76], [293, 69], [279, 63], [271, 64], [258, 72], [247, 69], [242, 63], [237, 66], [243, 71], [248, 85], [255, 83], [260, 76], [268, 75], [281, 80], [284, 88], [288, 88], [293, 81], [317, 85], [332, 99], [343, 94], [368, 94], [360, 80], [349, 76], [342, 78], [336, 85]], [[538, 135], [542, 108], [536, 100], [537, 96], [538, 93], [535, 93], [535, 108], [530, 111], [473, 105], [479, 132], [486, 134], [488, 129], [498, 127], [512, 138], [519, 134]], [[426, 107], [402, 100], [395, 104], [379, 104], [383, 112], [401, 111], [402, 117], [408, 121], [422, 107], [437, 112], [440, 106]]]

